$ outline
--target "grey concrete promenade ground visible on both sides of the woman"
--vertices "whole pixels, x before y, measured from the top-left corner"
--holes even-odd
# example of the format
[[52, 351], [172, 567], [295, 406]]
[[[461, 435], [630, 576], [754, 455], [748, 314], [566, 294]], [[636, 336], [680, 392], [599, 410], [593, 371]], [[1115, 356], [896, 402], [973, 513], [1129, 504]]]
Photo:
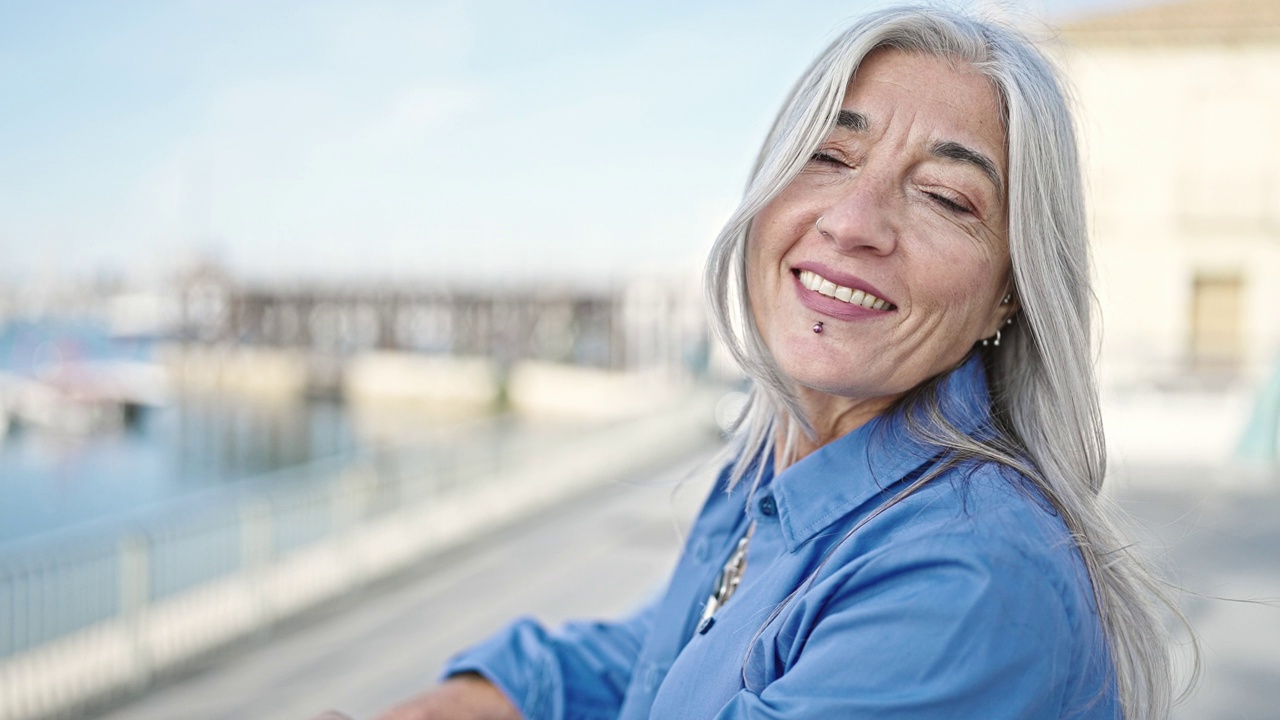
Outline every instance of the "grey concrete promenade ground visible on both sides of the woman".
[[[612, 616], [654, 591], [705, 493], [705, 456], [593, 491], [383, 584], [360, 602], [224, 653], [110, 720], [371, 717], [428, 687], [448, 655], [518, 614]], [[1213, 487], [1130, 469], [1116, 498], [1151, 529], [1204, 644], [1204, 682], [1175, 720], [1280, 717], [1280, 480]], [[692, 479], [672, 489], [684, 477]], [[1270, 606], [1219, 596], [1258, 601]]]

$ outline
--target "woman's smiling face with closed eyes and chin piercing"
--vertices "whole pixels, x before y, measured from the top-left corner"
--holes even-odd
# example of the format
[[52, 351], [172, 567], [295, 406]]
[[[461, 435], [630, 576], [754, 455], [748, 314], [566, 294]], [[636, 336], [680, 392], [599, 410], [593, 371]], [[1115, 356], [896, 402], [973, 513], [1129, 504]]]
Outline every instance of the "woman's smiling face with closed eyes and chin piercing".
[[865, 58], [837, 127], [748, 240], [756, 325], [803, 393], [893, 398], [995, 334], [1011, 310], [1006, 165], [988, 79]]

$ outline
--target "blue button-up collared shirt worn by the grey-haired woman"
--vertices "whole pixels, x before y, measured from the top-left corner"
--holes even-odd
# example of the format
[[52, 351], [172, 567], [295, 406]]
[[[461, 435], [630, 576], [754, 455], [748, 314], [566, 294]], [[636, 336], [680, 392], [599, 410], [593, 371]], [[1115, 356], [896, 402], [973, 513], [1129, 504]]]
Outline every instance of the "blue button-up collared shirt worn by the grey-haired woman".
[[[941, 391], [947, 419], [982, 433], [979, 360]], [[849, 534], [937, 457], [886, 415], [765, 468], [751, 495], [721, 484], [639, 612], [517, 620], [444, 674], [480, 673], [530, 719], [1120, 717], [1079, 551], [1021, 477], [961, 464]], [[699, 626], [751, 520], [742, 583]]]

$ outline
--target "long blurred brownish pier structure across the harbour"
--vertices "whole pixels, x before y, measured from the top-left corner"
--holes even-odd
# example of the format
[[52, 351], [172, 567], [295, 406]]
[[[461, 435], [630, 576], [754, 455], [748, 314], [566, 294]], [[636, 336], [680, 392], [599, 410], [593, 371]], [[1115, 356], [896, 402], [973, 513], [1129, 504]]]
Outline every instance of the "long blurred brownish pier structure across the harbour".
[[708, 336], [689, 283], [609, 288], [242, 283], [212, 270], [182, 291], [178, 340], [293, 348], [324, 375], [364, 351], [544, 360], [613, 370], [701, 374]]

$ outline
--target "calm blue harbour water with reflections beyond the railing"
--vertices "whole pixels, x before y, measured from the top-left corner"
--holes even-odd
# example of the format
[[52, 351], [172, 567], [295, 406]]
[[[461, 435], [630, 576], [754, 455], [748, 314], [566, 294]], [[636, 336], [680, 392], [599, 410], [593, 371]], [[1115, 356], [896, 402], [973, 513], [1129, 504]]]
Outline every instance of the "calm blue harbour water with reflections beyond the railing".
[[[156, 361], [161, 350], [154, 340], [111, 338], [92, 322], [10, 323], [0, 328], [0, 373], [58, 382], [82, 377], [95, 364], [131, 363], [166, 379], [168, 368]], [[95, 432], [22, 423], [5, 428], [0, 550], [36, 547], [60, 536], [110, 537], [177, 507], [212, 505], [247, 486], [330, 483], [362, 457], [443, 461], [439, 456], [467, 448], [483, 455], [485, 447], [563, 437], [577, 428], [484, 406], [462, 413], [430, 402], [165, 384], [163, 400]]]

